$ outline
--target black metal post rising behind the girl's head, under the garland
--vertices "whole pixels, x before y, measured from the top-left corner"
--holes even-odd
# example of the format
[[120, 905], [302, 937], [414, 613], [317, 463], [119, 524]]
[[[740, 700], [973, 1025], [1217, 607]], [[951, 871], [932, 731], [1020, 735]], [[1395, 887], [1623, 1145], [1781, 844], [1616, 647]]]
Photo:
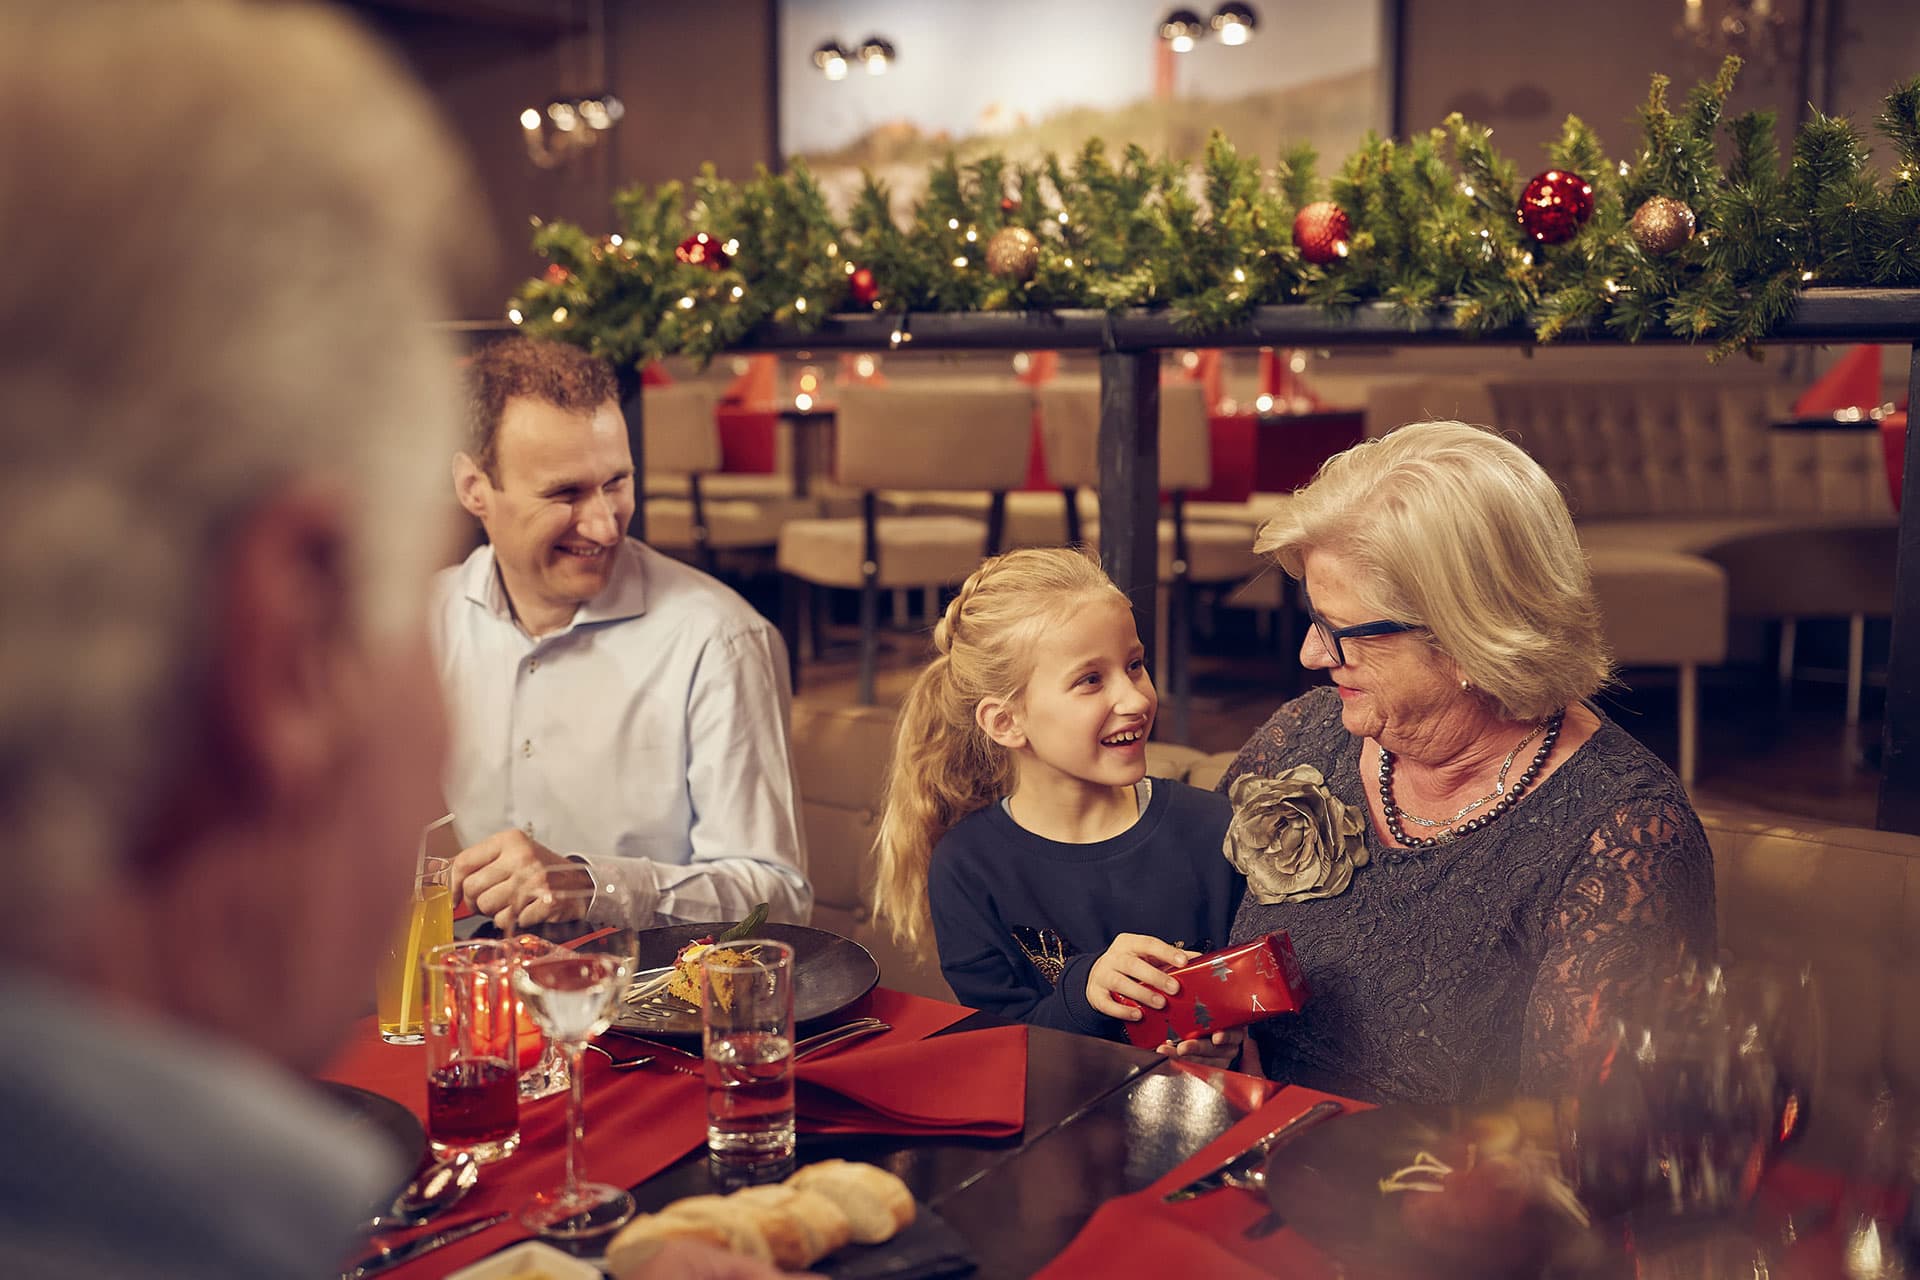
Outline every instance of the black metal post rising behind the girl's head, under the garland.
[[1100, 562], [1133, 601], [1146, 670], [1160, 676], [1160, 353], [1100, 353]]

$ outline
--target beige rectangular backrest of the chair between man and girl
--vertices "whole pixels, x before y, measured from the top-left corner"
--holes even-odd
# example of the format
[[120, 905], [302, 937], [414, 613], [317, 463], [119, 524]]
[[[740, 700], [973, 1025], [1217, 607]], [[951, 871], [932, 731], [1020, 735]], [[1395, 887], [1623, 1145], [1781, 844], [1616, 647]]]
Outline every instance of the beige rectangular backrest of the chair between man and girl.
[[1008, 491], [1027, 480], [1031, 439], [1023, 386], [847, 386], [833, 466], [852, 489]]

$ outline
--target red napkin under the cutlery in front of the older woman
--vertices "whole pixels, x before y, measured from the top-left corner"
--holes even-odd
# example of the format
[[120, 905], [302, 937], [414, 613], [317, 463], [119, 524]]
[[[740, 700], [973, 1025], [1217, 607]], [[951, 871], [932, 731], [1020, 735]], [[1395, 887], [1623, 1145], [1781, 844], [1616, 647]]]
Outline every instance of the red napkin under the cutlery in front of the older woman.
[[[1283, 1228], [1263, 1240], [1244, 1236], [1246, 1228], [1267, 1213], [1267, 1203], [1260, 1196], [1225, 1188], [1177, 1205], [1160, 1199], [1238, 1155], [1323, 1098], [1327, 1094], [1311, 1088], [1283, 1088], [1273, 1102], [1244, 1117], [1144, 1192], [1102, 1205], [1073, 1244], [1035, 1272], [1037, 1278], [1148, 1276], [1165, 1268], [1167, 1274], [1208, 1276], [1208, 1280], [1267, 1276], [1332, 1280], [1338, 1274], [1332, 1263], [1298, 1232]], [[1350, 1109], [1359, 1105], [1348, 1103]]]

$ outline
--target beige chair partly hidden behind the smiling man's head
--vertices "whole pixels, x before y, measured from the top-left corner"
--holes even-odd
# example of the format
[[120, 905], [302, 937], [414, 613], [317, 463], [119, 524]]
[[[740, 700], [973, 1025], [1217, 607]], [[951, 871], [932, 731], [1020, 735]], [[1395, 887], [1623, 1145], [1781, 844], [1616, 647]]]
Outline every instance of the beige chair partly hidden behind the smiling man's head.
[[712, 574], [720, 553], [772, 551], [787, 520], [818, 514], [814, 503], [778, 487], [768, 487], [764, 495], [749, 495], [753, 489], [712, 493], [722, 459], [720, 422], [714, 416], [718, 390], [676, 382], [647, 388], [643, 395], [649, 547], [687, 555]]

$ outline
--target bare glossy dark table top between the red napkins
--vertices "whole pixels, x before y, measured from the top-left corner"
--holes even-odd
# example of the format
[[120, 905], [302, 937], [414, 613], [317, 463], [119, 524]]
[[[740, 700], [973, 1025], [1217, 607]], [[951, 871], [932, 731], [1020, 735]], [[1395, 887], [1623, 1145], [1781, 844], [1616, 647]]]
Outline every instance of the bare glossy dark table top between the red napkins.
[[[973, 1013], [939, 1034], [996, 1027]], [[801, 1134], [795, 1161], [891, 1169], [968, 1242], [989, 1280], [1029, 1276], [1094, 1209], [1137, 1192], [1225, 1132], [1236, 1111], [1200, 1079], [1127, 1044], [1029, 1029], [1027, 1125], [1016, 1138]], [[695, 1150], [634, 1188], [639, 1209], [726, 1190]]]

